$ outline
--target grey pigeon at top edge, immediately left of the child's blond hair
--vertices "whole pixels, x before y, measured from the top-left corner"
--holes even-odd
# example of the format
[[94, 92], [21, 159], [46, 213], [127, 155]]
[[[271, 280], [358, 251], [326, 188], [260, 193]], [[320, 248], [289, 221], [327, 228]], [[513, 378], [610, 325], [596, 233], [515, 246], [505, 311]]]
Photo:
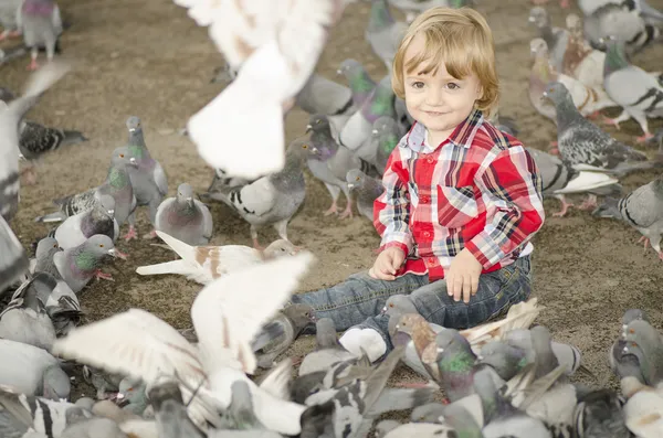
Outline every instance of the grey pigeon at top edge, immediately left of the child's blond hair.
[[396, 21], [391, 17], [387, 0], [371, 0], [365, 38], [389, 72], [391, 72], [393, 57], [407, 30], [406, 23]]

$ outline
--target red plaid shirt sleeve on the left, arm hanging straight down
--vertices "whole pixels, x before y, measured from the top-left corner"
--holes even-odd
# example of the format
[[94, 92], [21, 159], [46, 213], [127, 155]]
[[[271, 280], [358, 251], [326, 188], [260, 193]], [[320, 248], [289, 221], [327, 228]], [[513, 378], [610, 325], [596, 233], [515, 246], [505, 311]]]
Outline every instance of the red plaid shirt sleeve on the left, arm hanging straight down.
[[412, 250], [410, 232], [409, 172], [398, 147], [391, 152], [382, 175], [385, 192], [373, 203], [373, 225], [382, 237], [380, 250], [397, 246], [406, 256]]

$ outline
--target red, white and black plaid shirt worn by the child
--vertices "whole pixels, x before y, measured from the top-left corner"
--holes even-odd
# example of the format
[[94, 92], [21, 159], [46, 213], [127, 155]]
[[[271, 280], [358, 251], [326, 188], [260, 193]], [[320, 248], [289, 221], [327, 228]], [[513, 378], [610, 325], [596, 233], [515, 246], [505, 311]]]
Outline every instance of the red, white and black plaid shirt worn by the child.
[[453, 257], [467, 248], [484, 273], [533, 249], [544, 223], [541, 180], [534, 159], [515, 138], [474, 110], [436, 148], [414, 124], [391, 153], [375, 202], [380, 249], [408, 255], [398, 275], [444, 278]]

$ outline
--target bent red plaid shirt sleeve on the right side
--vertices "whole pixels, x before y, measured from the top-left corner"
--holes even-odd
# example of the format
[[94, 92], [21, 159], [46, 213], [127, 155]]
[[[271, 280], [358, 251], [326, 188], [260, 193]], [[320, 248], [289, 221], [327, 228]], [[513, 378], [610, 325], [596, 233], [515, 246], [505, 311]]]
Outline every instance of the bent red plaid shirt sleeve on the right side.
[[486, 226], [465, 247], [484, 269], [525, 246], [544, 224], [541, 180], [523, 146], [502, 150], [475, 182], [486, 205]]

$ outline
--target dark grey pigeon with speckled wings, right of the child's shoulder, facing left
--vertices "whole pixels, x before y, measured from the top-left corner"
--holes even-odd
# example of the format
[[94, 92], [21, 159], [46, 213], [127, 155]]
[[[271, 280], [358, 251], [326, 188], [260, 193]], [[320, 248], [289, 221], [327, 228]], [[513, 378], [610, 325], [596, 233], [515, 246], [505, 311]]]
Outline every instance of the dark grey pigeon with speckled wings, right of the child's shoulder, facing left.
[[623, 175], [657, 165], [582, 117], [560, 83], [548, 84], [544, 96], [555, 103], [559, 153], [575, 169]]

